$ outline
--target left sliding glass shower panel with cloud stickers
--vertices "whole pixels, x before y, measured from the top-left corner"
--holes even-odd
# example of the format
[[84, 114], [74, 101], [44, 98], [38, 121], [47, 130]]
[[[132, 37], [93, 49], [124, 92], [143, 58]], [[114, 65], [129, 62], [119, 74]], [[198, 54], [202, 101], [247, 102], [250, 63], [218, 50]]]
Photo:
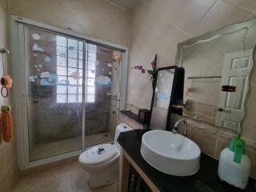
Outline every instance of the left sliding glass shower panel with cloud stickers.
[[24, 26], [30, 162], [82, 150], [84, 42]]

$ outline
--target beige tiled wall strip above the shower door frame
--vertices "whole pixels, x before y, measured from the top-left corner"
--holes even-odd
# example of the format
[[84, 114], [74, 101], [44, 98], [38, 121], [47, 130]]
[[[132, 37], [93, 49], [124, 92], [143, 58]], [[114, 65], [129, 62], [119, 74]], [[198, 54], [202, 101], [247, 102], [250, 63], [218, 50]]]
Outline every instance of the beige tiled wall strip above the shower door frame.
[[102, 0], [10, 0], [10, 13], [128, 46], [130, 13]]

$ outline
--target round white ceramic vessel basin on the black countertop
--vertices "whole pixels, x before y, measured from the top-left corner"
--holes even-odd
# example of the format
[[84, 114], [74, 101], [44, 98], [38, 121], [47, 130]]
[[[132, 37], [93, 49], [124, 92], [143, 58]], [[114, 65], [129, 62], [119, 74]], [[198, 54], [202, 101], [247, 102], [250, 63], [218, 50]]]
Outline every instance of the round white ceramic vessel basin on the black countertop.
[[142, 135], [141, 154], [150, 166], [166, 174], [189, 176], [199, 170], [201, 150], [181, 134], [150, 130]]

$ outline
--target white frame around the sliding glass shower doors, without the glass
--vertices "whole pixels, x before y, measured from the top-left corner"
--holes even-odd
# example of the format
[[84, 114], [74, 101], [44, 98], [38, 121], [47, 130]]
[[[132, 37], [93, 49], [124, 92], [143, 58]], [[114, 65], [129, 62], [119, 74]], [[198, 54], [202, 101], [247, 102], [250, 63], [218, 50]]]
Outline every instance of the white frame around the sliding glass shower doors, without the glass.
[[[96, 38], [90, 38], [84, 34], [78, 34], [71, 30], [65, 30], [62, 28], [58, 28], [55, 26], [50, 26], [43, 24], [41, 22], [34, 22], [30, 19], [21, 18], [15, 15], [10, 16], [10, 33], [11, 33], [11, 39], [10, 39], [10, 46], [11, 46], [11, 63], [12, 63], [12, 74], [14, 76], [14, 88], [13, 88], [13, 98], [14, 98], [14, 131], [16, 132], [16, 142], [17, 142], [17, 148], [18, 148], [18, 165], [20, 170], [26, 170], [30, 167], [34, 166], [41, 166], [46, 163], [59, 161], [65, 158], [72, 158], [75, 156], [78, 156], [81, 154], [82, 150], [86, 150], [84, 148], [85, 143], [85, 104], [84, 104], [84, 97], [82, 97], [82, 149], [81, 150], [75, 150], [68, 152], [66, 154], [58, 154], [53, 157], [49, 158], [43, 158], [40, 160], [36, 160], [33, 162], [30, 162], [29, 159], [29, 138], [28, 138], [28, 126], [27, 126], [27, 116], [24, 118], [24, 114], [26, 110], [26, 95], [22, 94], [22, 89], [26, 90], [26, 85], [22, 83], [21, 79], [22, 73], [21, 71], [26, 69], [22, 69], [21, 66], [25, 66], [25, 55], [24, 55], [24, 42], [21, 45], [19, 43], [19, 39], [24, 38], [24, 34], [22, 31], [20, 31], [21, 27], [23, 26], [29, 26], [38, 28], [40, 30], [46, 30], [50, 32], [55, 32], [58, 34], [64, 34], [66, 36], [74, 37], [74, 38], [80, 38], [85, 42], [93, 42], [95, 45], [104, 46], [106, 48], [112, 48], [115, 50], [122, 51], [122, 82], [121, 82], [121, 97], [120, 97], [120, 110], [125, 109], [125, 103], [126, 103], [126, 79], [127, 79], [127, 71], [128, 71], [128, 48], [126, 46], [119, 46], [117, 44], [114, 44], [112, 42], [106, 42], [100, 39]], [[83, 58], [84, 59], [84, 58]], [[25, 68], [25, 67], [24, 67]], [[26, 71], [25, 71], [26, 72]], [[83, 70], [84, 73], [84, 70]], [[83, 75], [84, 78], [84, 75]], [[84, 80], [84, 79], [83, 79]], [[15, 83], [16, 82], [16, 83]], [[84, 82], [84, 81], [83, 81]], [[84, 95], [84, 89], [83, 95]]]

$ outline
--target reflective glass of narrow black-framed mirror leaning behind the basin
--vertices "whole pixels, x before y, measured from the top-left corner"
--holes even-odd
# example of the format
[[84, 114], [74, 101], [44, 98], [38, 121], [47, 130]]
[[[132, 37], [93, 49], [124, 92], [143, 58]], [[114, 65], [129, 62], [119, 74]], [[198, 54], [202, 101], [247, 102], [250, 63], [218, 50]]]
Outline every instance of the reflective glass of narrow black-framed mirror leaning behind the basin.
[[170, 100], [174, 85], [175, 67], [166, 67], [158, 70], [154, 97], [151, 104], [151, 130], [165, 130], [170, 109]]

